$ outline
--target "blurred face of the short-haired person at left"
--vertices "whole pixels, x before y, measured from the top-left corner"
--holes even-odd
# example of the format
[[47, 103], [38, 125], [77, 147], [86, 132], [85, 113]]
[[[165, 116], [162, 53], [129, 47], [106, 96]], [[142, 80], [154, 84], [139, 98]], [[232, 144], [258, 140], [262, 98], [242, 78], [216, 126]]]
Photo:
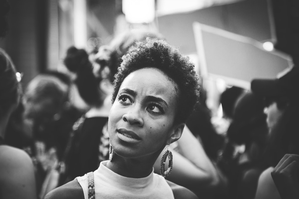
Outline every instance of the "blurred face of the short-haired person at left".
[[38, 75], [30, 81], [24, 93], [24, 118], [33, 134], [53, 130], [66, 95], [67, 85], [58, 78]]

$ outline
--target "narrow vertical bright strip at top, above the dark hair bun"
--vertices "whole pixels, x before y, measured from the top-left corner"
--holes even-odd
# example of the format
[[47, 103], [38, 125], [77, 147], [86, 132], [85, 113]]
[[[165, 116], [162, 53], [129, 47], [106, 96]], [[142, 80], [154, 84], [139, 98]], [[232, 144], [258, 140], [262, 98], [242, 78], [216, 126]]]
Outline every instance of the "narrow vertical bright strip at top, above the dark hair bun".
[[85, 48], [87, 40], [86, 0], [74, 0], [74, 45]]

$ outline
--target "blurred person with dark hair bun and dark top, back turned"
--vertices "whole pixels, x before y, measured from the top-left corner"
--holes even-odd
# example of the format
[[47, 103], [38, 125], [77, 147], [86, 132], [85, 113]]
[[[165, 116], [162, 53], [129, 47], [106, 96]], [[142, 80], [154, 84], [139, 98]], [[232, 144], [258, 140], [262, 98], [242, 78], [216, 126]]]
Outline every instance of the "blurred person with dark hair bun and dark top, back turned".
[[107, 97], [101, 87], [103, 75], [89, 56], [83, 49], [70, 47], [64, 59], [65, 66], [75, 74], [74, 84], [89, 109], [73, 125], [65, 151], [63, 183], [96, 170], [101, 161], [108, 159], [109, 139], [103, 129], [106, 129], [111, 105], [103, 105]]

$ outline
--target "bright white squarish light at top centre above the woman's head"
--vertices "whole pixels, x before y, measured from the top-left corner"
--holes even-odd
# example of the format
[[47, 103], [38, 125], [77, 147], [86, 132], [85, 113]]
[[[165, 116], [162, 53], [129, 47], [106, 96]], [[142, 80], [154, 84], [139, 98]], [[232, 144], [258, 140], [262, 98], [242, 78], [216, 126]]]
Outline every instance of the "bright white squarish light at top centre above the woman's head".
[[150, 23], [155, 19], [155, 0], [123, 0], [123, 13], [129, 23]]

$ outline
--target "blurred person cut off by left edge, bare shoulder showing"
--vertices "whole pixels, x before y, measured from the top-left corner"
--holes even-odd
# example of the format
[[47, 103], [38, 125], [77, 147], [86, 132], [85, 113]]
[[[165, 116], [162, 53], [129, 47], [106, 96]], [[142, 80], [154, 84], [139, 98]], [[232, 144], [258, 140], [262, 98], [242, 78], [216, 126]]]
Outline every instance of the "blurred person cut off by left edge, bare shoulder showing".
[[[0, 37], [7, 33], [6, 15], [9, 4], [0, 0]], [[29, 155], [4, 144], [7, 124], [21, 98], [21, 85], [17, 80], [16, 69], [10, 57], [0, 49], [0, 198], [34, 199], [36, 183], [34, 168]]]

